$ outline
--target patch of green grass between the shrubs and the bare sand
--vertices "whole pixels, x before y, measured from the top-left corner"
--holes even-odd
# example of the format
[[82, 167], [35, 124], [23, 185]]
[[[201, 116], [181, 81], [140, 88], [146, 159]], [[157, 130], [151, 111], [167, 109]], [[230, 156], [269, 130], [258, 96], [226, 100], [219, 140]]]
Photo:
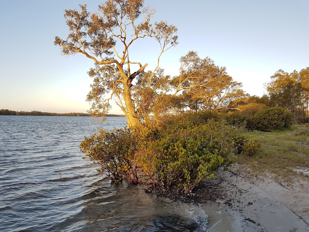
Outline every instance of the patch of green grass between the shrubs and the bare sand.
[[247, 172], [254, 175], [269, 173], [275, 180], [287, 183], [294, 182], [295, 178], [309, 179], [294, 171], [297, 167], [309, 168], [308, 124], [295, 124], [288, 129], [272, 132], [246, 131], [244, 135], [246, 138], [255, 137], [263, 145], [252, 157], [246, 154], [239, 156], [238, 163], [247, 166]]

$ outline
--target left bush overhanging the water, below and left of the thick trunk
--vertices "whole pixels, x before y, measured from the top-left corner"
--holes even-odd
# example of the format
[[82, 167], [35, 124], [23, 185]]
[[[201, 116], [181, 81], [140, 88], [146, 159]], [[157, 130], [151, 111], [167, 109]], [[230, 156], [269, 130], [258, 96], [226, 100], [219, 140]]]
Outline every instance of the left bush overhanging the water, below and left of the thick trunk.
[[101, 165], [100, 171], [115, 182], [127, 178], [137, 181], [137, 165], [134, 160], [137, 138], [129, 129], [105, 131], [91, 135], [82, 141], [79, 148], [85, 157]]

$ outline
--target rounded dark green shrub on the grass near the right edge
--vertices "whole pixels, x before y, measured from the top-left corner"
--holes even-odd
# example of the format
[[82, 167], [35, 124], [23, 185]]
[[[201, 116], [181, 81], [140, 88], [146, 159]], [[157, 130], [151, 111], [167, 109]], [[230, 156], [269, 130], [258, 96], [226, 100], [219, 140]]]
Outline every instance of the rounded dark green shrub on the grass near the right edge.
[[252, 117], [254, 130], [272, 131], [290, 127], [293, 114], [281, 107], [273, 107], [261, 110]]

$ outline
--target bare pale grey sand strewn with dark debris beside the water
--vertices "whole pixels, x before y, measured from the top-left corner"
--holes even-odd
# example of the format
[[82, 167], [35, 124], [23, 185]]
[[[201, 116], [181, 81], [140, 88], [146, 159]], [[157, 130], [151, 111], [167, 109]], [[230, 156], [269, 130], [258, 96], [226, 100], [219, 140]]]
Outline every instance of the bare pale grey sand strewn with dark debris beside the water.
[[[230, 226], [210, 231], [269, 231], [295, 232], [309, 231], [309, 188], [304, 182], [293, 183], [285, 187], [271, 178], [263, 181], [256, 177], [242, 177], [233, 171], [219, 170], [216, 179], [205, 180], [205, 187], [197, 190], [202, 195], [202, 207], [207, 209], [213, 204], [203, 200], [207, 195], [214, 195], [216, 203]], [[205, 191], [205, 193], [202, 193]], [[210, 226], [216, 225], [217, 216], [209, 215]], [[219, 223], [218, 223], [219, 224]]]

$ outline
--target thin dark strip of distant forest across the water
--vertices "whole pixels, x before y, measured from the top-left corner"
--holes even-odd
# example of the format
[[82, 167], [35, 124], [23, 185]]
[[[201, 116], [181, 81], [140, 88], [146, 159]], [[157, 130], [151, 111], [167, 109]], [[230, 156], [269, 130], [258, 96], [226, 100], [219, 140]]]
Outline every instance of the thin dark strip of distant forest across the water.
[[[37, 110], [33, 110], [31, 112], [26, 111], [14, 111], [14, 110], [8, 110], [8, 109], [2, 109], [0, 110], [0, 115], [19, 115], [19, 116], [90, 116], [90, 114], [85, 113], [65, 113], [65, 114], [59, 114], [59, 113], [48, 113], [48, 112], [41, 112]], [[124, 114], [105, 114], [105, 117], [125, 117]]]

